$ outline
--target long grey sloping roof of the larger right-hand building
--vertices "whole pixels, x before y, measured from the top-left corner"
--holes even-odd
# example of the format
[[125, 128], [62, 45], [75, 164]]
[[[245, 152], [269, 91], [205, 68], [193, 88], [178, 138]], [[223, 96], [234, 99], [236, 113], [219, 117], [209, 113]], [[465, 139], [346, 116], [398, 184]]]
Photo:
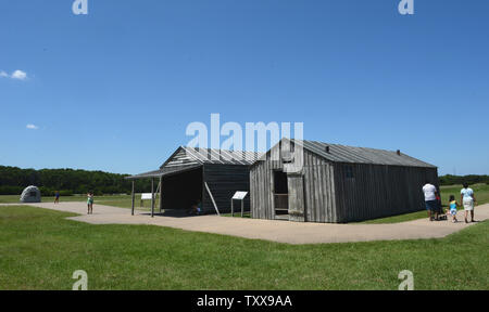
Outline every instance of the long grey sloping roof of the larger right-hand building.
[[422, 161], [406, 154], [399, 153], [398, 155], [397, 151], [354, 147], [308, 140], [290, 141], [294, 144], [302, 145], [304, 150], [333, 162], [437, 168], [434, 165]]

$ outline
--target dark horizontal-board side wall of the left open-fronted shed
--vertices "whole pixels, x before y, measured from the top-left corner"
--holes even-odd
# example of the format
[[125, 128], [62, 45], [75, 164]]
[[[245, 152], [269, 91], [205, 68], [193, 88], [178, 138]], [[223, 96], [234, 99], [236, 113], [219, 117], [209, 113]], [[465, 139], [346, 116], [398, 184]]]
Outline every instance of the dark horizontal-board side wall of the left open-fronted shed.
[[[250, 192], [250, 167], [244, 165], [203, 165], [203, 181], [214, 196], [220, 212], [230, 212], [230, 198], [237, 191]], [[203, 186], [202, 209], [215, 211], [211, 197]], [[235, 203], [235, 211], [240, 211], [239, 200]], [[244, 210], [250, 210], [250, 195], [244, 198]]]

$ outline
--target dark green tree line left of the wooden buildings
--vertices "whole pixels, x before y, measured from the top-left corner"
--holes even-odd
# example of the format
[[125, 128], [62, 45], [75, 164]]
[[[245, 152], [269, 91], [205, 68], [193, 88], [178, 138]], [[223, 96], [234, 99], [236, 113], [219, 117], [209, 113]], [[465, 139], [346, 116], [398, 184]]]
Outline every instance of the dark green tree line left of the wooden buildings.
[[[102, 194], [129, 194], [131, 182], [124, 178], [129, 174], [109, 173], [74, 169], [21, 169], [0, 166], [0, 195], [18, 195], [29, 186], [36, 185], [43, 196], [52, 196], [55, 191], [64, 196], [93, 192]], [[137, 180], [136, 192], [149, 192], [151, 182]]]

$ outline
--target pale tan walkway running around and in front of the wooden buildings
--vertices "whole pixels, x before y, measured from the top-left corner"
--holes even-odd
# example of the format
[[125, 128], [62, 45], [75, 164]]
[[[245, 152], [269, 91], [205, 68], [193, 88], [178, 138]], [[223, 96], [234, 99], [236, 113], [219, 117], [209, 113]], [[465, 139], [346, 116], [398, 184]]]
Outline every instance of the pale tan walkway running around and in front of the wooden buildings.
[[[30, 206], [80, 213], [68, 218], [91, 224], [151, 224], [168, 226], [193, 232], [208, 232], [256, 238], [288, 244], [347, 243], [368, 240], [394, 240], [416, 238], [439, 238], [471, 226], [475, 223], [451, 223], [446, 221], [429, 222], [427, 218], [393, 224], [324, 224], [296, 223], [217, 216], [201, 217], [161, 217], [151, 218], [146, 211], [136, 211], [130, 216], [129, 209], [95, 205], [95, 213], [86, 216], [85, 203], [29, 204]], [[1, 205], [0, 205], [1, 206]], [[476, 220], [489, 219], [489, 204], [476, 207]], [[463, 220], [463, 212], [459, 212]]]

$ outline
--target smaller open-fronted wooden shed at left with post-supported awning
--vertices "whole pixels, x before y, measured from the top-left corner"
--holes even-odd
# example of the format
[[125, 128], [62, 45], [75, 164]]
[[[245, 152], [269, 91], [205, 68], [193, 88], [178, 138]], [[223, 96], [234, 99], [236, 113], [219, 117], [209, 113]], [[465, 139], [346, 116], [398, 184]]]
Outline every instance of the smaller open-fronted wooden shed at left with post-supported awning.
[[[249, 152], [179, 147], [159, 170], [127, 179], [151, 179], [151, 193], [159, 183], [160, 208], [164, 210], [190, 209], [201, 203], [204, 213], [229, 212], [235, 192], [249, 192], [250, 166], [258, 158], [259, 154]], [[133, 213], [134, 196], [133, 183]], [[244, 199], [244, 209], [249, 209], [249, 198]], [[151, 207], [154, 214], [154, 200]]]

